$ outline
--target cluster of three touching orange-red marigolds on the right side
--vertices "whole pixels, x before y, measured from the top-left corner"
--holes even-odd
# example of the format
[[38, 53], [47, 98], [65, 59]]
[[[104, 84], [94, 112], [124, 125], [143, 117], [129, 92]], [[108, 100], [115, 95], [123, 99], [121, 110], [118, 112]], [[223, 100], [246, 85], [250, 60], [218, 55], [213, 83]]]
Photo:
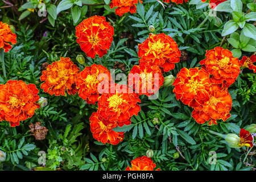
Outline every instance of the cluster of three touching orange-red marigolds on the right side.
[[[230, 117], [232, 98], [228, 87], [236, 81], [240, 73], [240, 63], [228, 49], [216, 47], [207, 51], [199, 68], [182, 68], [173, 85], [177, 100], [192, 107], [192, 117], [197, 123], [217, 120], [226, 121]], [[210, 76], [211, 75], [211, 76]]]

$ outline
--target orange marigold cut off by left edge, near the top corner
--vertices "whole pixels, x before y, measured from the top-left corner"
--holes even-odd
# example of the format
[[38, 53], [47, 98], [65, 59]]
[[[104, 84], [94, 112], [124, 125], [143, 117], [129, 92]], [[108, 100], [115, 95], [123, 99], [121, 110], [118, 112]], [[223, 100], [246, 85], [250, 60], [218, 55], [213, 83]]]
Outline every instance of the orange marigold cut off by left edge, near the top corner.
[[10, 43], [16, 44], [16, 34], [11, 32], [9, 24], [0, 22], [0, 49], [3, 48], [8, 52], [11, 49]]

